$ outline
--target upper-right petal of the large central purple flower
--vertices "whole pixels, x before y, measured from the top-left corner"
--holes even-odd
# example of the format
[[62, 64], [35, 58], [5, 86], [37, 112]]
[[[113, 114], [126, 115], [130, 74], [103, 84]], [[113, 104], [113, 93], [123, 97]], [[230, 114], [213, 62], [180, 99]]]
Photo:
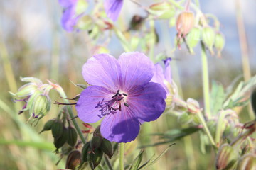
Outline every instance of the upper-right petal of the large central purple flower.
[[148, 84], [154, 75], [154, 64], [141, 52], [126, 52], [120, 55], [122, 90]]

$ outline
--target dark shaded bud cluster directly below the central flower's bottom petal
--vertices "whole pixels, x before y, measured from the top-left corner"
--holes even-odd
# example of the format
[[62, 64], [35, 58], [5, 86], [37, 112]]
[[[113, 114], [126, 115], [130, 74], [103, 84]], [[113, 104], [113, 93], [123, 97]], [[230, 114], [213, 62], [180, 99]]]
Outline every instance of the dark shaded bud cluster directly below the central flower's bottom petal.
[[103, 153], [112, 158], [113, 147], [109, 140], [100, 134], [100, 126], [93, 132], [92, 139], [82, 147], [82, 164], [88, 163], [92, 169], [100, 164]]

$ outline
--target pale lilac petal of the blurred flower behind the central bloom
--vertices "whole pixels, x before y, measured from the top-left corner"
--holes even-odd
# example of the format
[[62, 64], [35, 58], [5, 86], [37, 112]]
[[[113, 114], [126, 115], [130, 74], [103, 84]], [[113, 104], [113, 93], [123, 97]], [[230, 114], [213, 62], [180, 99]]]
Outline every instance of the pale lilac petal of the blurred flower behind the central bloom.
[[154, 76], [152, 77], [151, 82], [161, 84], [161, 86], [164, 87], [166, 92], [169, 92], [169, 89], [167, 89], [166, 85], [164, 84], [164, 79], [165, 75], [163, 68], [159, 63], [155, 64]]

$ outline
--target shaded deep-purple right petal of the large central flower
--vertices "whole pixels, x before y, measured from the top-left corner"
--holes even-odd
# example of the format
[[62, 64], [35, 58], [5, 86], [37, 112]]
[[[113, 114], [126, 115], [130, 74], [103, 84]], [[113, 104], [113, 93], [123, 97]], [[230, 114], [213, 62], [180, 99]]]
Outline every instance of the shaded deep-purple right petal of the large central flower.
[[142, 91], [128, 97], [129, 109], [140, 123], [156, 120], [166, 108], [166, 91], [157, 83], [150, 82]]

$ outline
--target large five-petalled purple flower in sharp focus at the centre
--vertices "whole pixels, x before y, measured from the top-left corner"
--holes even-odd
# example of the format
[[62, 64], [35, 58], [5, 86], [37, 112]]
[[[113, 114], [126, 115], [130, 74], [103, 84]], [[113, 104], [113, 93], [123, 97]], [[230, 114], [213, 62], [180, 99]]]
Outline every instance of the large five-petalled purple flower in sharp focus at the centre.
[[154, 64], [140, 52], [123, 53], [119, 59], [100, 54], [82, 67], [88, 84], [76, 105], [85, 123], [102, 119], [100, 131], [107, 140], [130, 142], [137, 137], [139, 125], [159, 118], [164, 112], [166, 91], [149, 82]]

